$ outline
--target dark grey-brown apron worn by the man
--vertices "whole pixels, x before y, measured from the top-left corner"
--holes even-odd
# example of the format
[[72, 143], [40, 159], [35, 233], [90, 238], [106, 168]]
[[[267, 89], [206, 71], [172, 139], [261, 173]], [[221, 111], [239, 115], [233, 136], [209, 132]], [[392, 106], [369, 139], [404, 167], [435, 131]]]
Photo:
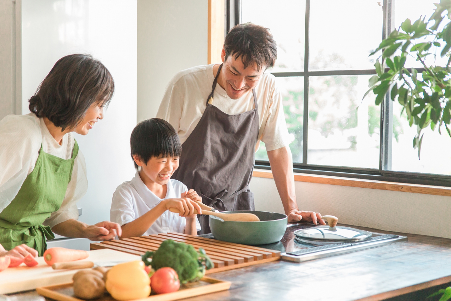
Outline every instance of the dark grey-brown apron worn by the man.
[[[259, 131], [257, 96], [253, 89], [255, 108], [236, 115], [208, 103], [221, 68], [222, 64], [198, 125], [182, 144], [179, 168], [172, 178], [196, 190], [202, 202], [216, 210], [255, 210], [249, 183]], [[198, 218], [202, 227], [198, 234], [211, 233], [208, 215]]]

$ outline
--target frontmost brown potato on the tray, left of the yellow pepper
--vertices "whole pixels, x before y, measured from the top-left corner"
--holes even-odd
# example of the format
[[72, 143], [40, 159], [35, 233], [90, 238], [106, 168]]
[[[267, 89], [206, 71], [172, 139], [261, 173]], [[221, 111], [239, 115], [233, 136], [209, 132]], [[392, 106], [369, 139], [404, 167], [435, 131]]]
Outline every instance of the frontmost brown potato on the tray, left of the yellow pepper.
[[[101, 274], [100, 272], [97, 273]], [[103, 275], [99, 277], [95, 273], [84, 273], [77, 277], [74, 281], [74, 295], [85, 300], [103, 296], [103, 293], [105, 292], [105, 282], [103, 281], [102, 276]]]

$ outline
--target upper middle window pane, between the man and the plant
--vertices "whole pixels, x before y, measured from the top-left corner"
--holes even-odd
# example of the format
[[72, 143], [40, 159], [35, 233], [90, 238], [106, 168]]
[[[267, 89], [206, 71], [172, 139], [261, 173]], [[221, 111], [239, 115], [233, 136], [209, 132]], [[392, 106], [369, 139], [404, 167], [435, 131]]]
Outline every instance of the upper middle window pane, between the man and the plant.
[[368, 57], [382, 40], [374, 0], [310, 1], [309, 70], [374, 69]]

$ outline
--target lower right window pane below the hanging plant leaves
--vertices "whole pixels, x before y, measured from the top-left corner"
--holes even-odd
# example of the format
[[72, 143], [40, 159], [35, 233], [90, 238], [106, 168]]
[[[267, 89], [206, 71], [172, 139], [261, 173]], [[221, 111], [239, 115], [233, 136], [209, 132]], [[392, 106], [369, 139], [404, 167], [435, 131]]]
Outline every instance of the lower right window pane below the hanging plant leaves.
[[417, 134], [416, 126], [409, 126], [405, 111], [400, 116], [401, 110], [398, 102], [393, 103], [391, 170], [451, 175], [451, 138], [445, 127], [441, 129], [442, 135], [438, 134], [438, 129], [434, 132], [430, 127], [423, 129], [419, 160], [418, 151], [412, 146]]

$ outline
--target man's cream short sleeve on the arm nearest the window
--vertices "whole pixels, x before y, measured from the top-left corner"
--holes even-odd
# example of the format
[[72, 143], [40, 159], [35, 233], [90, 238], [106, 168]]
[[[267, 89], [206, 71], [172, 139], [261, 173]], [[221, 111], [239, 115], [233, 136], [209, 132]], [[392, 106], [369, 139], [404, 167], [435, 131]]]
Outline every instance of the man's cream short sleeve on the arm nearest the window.
[[272, 99], [261, 140], [265, 143], [267, 151], [283, 148], [291, 142], [285, 122], [282, 95], [276, 88], [272, 93]]

